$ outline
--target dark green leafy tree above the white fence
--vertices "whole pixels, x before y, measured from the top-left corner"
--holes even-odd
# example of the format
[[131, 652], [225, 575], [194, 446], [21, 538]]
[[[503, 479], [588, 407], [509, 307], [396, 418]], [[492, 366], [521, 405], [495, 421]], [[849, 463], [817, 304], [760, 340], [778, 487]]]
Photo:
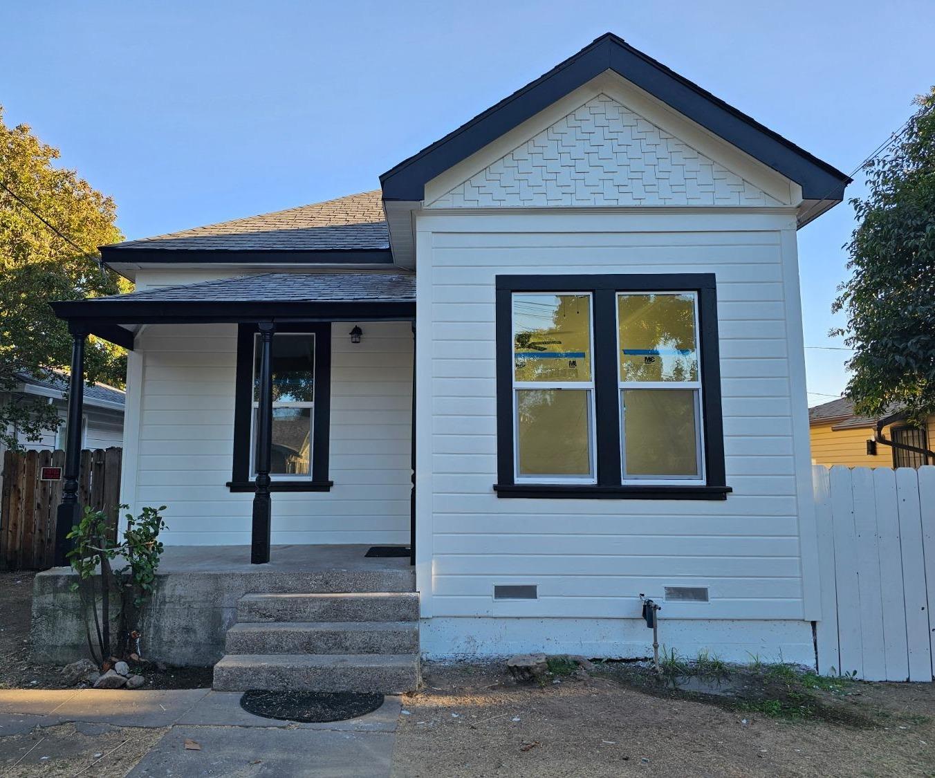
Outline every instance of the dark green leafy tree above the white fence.
[[855, 350], [856, 411], [899, 408], [921, 423], [935, 412], [935, 87], [915, 102], [889, 151], [864, 166], [868, 194], [851, 201], [853, 275], [832, 308], [847, 324], [832, 334]]

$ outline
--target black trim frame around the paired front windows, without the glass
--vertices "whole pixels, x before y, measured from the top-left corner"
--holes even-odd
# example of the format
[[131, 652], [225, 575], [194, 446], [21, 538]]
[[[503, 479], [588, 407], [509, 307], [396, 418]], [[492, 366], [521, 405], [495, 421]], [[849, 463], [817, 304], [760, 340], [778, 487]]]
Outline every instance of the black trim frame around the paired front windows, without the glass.
[[[590, 292], [594, 300], [595, 430], [597, 484], [516, 483], [513, 468], [512, 295], [515, 292]], [[696, 292], [701, 360], [701, 412], [705, 455], [703, 485], [624, 484], [621, 472], [616, 322], [618, 292]], [[724, 425], [713, 273], [613, 273], [595, 275], [501, 275], [496, 277], [496, 469], [497, 497], [592, 499], [726, 499]]]

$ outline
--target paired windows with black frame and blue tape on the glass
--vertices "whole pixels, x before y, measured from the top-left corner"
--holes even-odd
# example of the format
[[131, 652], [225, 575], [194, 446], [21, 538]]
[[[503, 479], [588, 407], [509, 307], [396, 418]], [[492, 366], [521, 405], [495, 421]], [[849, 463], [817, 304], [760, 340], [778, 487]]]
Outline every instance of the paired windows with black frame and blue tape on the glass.
[[712, 274], [499, 276], [500, 497], [724, 499]]

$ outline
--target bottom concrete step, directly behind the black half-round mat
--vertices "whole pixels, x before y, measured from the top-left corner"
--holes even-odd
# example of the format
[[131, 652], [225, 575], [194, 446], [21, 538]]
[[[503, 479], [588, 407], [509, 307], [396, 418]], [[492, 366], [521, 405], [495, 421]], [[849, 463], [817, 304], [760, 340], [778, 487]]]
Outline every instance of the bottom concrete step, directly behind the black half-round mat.
[[381, 692], [402, 694], [419, 684], [415, 654], [231, 654], [214, 666], [218, 691]]

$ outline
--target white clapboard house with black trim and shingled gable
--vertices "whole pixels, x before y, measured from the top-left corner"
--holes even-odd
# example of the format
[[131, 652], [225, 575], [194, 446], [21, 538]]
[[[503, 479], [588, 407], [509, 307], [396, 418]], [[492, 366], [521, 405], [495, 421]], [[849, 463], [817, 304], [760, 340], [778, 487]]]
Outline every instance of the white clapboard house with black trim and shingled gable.
[[133, 349], [169, 546], [411, 543], [424, 656], [643, 656], [645, 594], [683, 654], [812, 663], [796, 231], [848, 182], [606, 35], [381, 190], [104, 247], [137, 291], [56, 310]]

